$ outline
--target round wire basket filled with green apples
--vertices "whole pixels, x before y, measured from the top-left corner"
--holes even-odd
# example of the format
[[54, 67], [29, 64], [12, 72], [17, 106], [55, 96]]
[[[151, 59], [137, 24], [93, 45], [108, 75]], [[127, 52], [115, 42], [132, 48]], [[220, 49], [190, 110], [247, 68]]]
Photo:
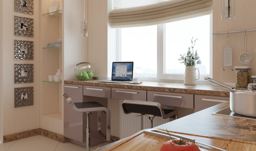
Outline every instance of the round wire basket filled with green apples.
[[89, 80], [94, 74], [94, 68], [89, 62], [81, 62], [76, 64], [74, 74], [79, 80]]

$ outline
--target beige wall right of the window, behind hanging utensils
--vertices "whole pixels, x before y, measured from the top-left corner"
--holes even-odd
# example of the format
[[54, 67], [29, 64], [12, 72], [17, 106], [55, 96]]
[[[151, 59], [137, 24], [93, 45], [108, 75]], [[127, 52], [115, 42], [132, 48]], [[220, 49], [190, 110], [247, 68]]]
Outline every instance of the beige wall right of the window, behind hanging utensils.
[[[254, 8], [256, 6], [256, 1], [236, 0], [235, 4], [236, 19], [221, 20], [221, 0], [213, 0], [213, 33], [256, 29], [256, 10]], [[229, 45], [232, 46], [232, 62], [234, 71], [231, 71], [231, 67], [225, 67], [225, 71], [222, 69], [223, 47], [226, 46], [227, 34], [213, 35], [213, 79], [219, 80], [221, 82], [236, 82], [235, 66], [241, 66], [239, 56], [242, 52], [244, 52], [244, 35], [245, 33], [229, 34]], [[256, 54], [254, 52], [254, 48], [256, 47], [256, 32], [248, 32], [246, 35], [247, 52], [252, 55], [252, 75], [256, 75]]]

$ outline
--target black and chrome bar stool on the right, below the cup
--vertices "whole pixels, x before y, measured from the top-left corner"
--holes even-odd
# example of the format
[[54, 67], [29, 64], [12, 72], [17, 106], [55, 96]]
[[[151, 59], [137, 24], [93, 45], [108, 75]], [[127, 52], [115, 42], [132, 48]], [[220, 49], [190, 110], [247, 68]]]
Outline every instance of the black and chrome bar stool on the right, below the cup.
[[[140, 113], [150, 119], [151, 128], [153, 128], [153, 119], [155, 116], [166, 118], [178, 118], [178, 112], [173, 109], [164, 109], [158, 102], [124, 100], [122, 102], [124, 114]], [[141, 129], [143, 123], [141, 122]]]

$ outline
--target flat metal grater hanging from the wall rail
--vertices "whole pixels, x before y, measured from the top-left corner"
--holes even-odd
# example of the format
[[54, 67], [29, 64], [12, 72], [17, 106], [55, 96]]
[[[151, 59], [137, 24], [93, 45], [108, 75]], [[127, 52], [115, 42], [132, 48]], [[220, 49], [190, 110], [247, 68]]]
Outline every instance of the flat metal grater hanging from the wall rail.
[[[232, 47], [229, 46], [229, 37], [227, 37], [227, 45], [223, 47], [223, 70], [224, 66], [231, 66], [232, 68]], [[225, 70], [224, 70], [225, 71]]]

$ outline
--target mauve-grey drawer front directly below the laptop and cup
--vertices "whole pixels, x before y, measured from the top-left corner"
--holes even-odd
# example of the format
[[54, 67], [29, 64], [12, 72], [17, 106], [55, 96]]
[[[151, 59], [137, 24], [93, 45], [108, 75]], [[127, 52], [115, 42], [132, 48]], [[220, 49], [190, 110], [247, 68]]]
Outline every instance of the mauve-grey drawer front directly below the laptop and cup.
[[147, 91], [132, 89], [111, 89], [111, 98], [118, 100], [139, 100], [147, 101]]

